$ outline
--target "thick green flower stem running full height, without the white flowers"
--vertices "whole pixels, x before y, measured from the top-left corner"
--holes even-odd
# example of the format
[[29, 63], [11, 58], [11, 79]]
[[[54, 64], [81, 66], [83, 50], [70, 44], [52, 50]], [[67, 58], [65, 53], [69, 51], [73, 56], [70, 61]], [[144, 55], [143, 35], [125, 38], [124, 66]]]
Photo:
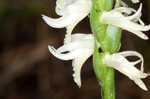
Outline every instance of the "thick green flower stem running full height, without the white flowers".
[[[95, 47], [93, 55], [94, 71], [98, 82], [102, 87], [103, 99], [115, 99], [114, 69], [104, 64], [106, 53], [116, 53], [120, 49], [121, 29], [112, 25], [100, 22], [100, 17], [104, 11], [112, 9], [113, 0], [93, 0], [90, 14], [90, 23], [95, 37]], [[117, 2], [115, 7], [119, 7]], [[102, 52], [99, 52], [97, 42], [100, 44]]]

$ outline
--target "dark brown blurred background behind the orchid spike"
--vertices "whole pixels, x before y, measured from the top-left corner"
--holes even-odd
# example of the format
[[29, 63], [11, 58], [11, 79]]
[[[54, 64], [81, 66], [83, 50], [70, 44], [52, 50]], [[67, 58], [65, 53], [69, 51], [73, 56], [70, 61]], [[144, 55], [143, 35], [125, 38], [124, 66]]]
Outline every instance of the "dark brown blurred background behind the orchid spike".
[[[127, 3], [130, 6], [138, 8]], [[100, 86], [92, 69], [92, 57], [82, 68], [82, 87], [72, 78], [71, 61], [52, 56], [48, 44], [63, 44], [65, 29], [49, 27], [41, 14], [58, 17], [55, 0], [0, 0], [0, 99], [100, 99]], [[150, 24], [150, 0], [143, 0], [142, 19]], [[89, 18], [73, 33], [91, 33]], [[150, 31], [149, 31], [150, 32]], [[150, 34], [147, 32], [150, 37]], [[123, 31], [123, 50], [143, 54], [145, 71], [150, 72], [150, 40]], [[150, 78], [144, 79], [150, 90]], [[150, 99], [126, 76], [116, 71], [116, 99]]]

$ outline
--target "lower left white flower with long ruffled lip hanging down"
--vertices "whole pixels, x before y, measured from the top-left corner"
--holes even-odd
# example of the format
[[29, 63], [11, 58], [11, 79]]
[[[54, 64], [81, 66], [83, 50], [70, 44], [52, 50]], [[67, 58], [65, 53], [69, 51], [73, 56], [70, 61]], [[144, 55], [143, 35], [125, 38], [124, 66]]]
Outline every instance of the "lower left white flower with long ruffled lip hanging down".
[[94, 37], [92, 34], [73, 34], [72, 41], [64, 44], [57, 50], [48, 46], [49, 51], [61, 60], [73, 60], [73, 77], [76, 84], [81, 87], [80, 72], [84, 62], [93, 54]]

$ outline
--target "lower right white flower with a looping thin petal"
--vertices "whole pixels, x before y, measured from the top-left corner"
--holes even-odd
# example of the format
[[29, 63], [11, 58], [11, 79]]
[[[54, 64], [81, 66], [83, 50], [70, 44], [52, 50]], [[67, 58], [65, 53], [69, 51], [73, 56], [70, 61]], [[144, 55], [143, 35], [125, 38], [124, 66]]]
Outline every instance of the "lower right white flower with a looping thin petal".
[[[134, 62], [130, 62], [126, 59], [128, 56], [137, 56], [140, 59]], [[141, 70], [138, 70], [135, 65], [141, 63]], [[143, 67], [143, 56], [135, 51], [125, 51], [115, 54], [106, 54], [104, 57], [104, 63], [116, 70], [120, 71], [124, 75], [128, 76], [131, 80], [133, 80], [140, 88], [147, 91], [144, 82], [141, 80], [149, 76], [149, 74], [144, 73]]]

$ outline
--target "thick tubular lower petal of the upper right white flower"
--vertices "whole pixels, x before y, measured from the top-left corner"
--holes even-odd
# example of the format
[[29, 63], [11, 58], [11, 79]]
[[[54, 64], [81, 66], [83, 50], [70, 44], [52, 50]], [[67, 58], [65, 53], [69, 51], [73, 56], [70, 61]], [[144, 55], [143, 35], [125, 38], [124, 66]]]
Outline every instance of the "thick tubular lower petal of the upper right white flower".
[[115, 13], [105, 12], [103, 13], [101, 19], [103, 23], [121, 27], [124, 30], [134, 33], [135, 35], [137, 35], [142, 39], [145, 40], [148, 39], [148, 37], [141, 31], [148, 31], [150, 29], [149, 25], [143, 26], [138, 23], [127, 20], [122, 14], [118, 12]]

